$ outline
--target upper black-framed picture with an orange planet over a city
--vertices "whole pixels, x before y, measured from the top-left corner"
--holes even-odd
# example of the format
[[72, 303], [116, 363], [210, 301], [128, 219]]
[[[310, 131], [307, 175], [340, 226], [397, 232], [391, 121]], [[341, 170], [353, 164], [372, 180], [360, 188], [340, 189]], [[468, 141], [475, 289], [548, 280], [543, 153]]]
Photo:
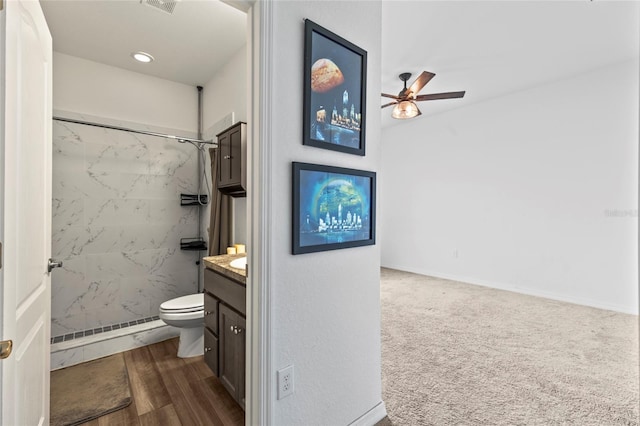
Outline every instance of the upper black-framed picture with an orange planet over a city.
[[365, 155], [367, 52], [305, 20], [303, 144]]

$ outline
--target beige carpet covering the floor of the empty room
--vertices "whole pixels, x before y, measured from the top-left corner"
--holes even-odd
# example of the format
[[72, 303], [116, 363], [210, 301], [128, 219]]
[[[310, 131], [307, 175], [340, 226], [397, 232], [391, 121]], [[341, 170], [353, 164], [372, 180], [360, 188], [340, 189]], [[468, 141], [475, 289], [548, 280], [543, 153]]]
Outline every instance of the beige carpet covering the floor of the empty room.
[[638, 425], [638, 316], [382, 270], [382, 396], [402, 425]]

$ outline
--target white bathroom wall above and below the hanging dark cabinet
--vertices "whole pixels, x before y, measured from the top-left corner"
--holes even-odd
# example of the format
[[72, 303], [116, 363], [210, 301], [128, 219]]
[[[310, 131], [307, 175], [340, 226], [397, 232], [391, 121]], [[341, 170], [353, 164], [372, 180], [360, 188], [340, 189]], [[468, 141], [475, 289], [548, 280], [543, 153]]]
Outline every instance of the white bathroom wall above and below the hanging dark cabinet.
[[[233, 122], [228, 121], [229, 114], [233, 114]], [[204, 86], [202, 115], [205, 139], [215, 139], [215, 135], [235, 122], [247, 122], [246, 45]], [[204, 223], [208, 224], [209, 208], [203, 214]], [[233, 237], [234, 243], [247, 243], [247, 199], [243, 197], [233, 198]]]

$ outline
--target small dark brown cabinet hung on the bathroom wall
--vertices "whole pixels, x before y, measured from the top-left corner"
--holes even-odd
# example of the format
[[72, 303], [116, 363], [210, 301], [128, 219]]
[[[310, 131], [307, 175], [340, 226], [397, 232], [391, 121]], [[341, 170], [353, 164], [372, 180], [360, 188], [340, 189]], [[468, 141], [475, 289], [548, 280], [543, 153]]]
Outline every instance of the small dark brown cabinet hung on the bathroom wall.
[[247, 195], [247, 124], [238, 122], [217, 135], [218, 189], [233, 197]]

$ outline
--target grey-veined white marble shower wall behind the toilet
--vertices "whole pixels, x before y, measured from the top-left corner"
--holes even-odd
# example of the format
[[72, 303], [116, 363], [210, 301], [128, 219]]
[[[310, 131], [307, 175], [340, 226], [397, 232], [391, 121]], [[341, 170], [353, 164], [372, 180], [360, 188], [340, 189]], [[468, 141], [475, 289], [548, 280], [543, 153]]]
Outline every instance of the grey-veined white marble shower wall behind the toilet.
[[190, 144], [53, 122], [52, 256], [64, 266], [51, 275], [52, 336], [154, 316], [196, 291], [198, 252], [179, 249], [197, 236], [197, 208], [180, 206], [196, 175]]

